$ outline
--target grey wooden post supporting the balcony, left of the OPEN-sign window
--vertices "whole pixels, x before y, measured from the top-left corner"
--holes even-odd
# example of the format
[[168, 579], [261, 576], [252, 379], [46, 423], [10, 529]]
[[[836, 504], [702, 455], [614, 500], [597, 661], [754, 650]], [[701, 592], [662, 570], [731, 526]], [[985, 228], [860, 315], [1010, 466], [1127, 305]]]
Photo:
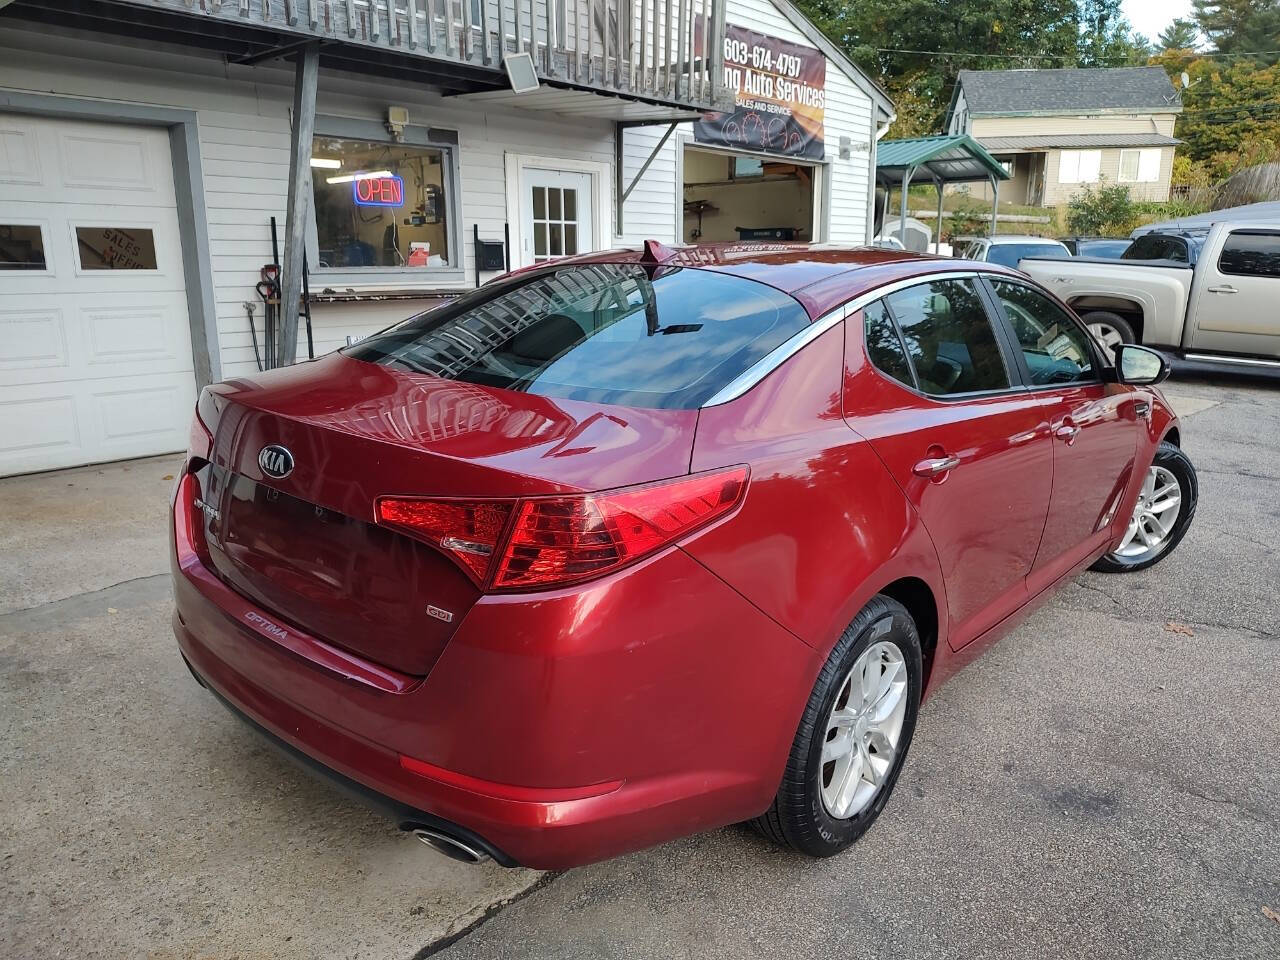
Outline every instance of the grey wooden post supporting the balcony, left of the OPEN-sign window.
[[302, 257], [311, 219], [311, 140], [316, 129], [316, 81], [320, 44], [298, 51], [293, 81], [293, 138], [289, 141], [289, 206], [284, 220], [284, 264], [280, 270], [280, 324], [275, 365], [298, 356], [298, 305], [302, 300]]

